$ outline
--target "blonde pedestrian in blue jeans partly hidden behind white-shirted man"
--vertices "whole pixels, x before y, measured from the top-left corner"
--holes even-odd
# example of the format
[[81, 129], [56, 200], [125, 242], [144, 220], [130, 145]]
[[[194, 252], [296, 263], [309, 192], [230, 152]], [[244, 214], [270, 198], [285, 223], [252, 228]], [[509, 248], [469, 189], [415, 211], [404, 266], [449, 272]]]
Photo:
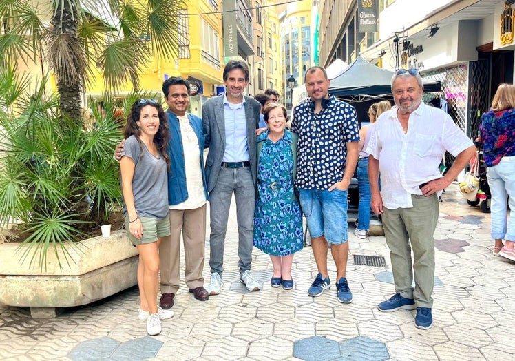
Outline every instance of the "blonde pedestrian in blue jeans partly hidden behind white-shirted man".
[[375, 126], [375, 121], [383, 112], [392, 107], [390, 101], [379, 101], [368, 108], [370, 124], [363, 125], [359, 130], [359, 161], [357, 163], [357, 186], [359, 191], [359, 205], [357, 212], [357, 227], [354, 234], [357, 238], [364, 239], [370, 228], [370, 183], [368, 182], [368, 154], [365, 149], [370, 141], [370, 134]]

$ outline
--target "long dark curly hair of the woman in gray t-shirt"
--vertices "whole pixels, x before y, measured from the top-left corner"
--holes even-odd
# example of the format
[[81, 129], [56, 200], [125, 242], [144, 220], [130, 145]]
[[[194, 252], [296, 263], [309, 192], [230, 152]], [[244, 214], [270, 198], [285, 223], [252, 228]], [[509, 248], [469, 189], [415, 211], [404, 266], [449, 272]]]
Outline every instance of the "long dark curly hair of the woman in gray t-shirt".
[[153, 99], [138, 99], [136, 102], [134, 102], [131, 108], [131, 112], [127, 117], [127, 124], [125, 125], [125, 129], [123, 130], [123, 134], [125, 136], [125, 139], [129, 138], [129, 136], [132, 136], [133, 134], [136, 136], [136, 139], [138, 139], [138, 142], [140, 143], [141, 156], [143, 156], [143, 146], [141, 145], [140, 141], [141, 130], [140, 127], [138, 127], [138, 125], [136, 124], [136, 121], [140, 120], [141, 110], [143, 109], [143, 107], [146, 107], [147, 105], [155, 107], [158, 110], [159, 129], [156, 135], [154, 136], [154, 144], [156, 144], [158, 152], [160, 152], [160, 154], [162, 154], [162, 157], [165, 158], [165, 161], [167, 162], [167, 167], [168, 169], [170, 169], [170, 157], [167, 152], [170, 140], [170, 130], [165, 111], [162, 110], [162, 106], [160, 105], [160, 103], [158, 103], [158, 101], [155, 101]]

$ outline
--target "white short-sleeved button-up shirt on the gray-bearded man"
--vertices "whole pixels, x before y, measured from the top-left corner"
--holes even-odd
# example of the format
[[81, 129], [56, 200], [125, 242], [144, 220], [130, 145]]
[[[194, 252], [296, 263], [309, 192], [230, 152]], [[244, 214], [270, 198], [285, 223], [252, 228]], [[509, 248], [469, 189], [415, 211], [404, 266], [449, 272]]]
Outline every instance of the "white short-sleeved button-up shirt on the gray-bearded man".
[[445, 151], [457, 156], [471, 145], [452, 118], [435, 107], [422, 103], [412, 112], [406, 134], [396, 106], [381, 114], [366, 152], [379, 160], [383, 206], [413, 207], [411, 194], [422, 194], [422, 183], [441, 178], [439, 165]]

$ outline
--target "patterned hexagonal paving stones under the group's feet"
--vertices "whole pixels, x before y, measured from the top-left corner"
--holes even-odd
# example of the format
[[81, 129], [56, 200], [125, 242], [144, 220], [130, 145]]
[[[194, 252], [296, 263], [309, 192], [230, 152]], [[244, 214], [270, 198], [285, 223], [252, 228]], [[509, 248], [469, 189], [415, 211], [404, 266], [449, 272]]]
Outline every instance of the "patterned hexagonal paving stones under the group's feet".
[[[414, 327], [414, 311], [377, 310], [394, 293], [388, 248], [382, 236], [357, 239], [353, 225], [350, 305], [337, 302], [334, 285], [308, 296], [317, 274], [311, 247], [295, 256], [291, 291], [270, 286], [270, 258], [254, 249], [253, 274], [263, 289], [246, 291], [233, 212], [222, 293], [199, 302], [182, 283], [175, 316], [162, 322], [160, 335], [147, 336], [137, 318], [137, 287], [54, 319], [0, 306], [0, 360], [515, 360], [515, 262], [493, 256], [490, 215], [467, 205], [456, 185], [440, 205], [434, 324], [427, 331]], [[386, 267], [356, 265], [359, 255], [383, 256]], [[329, 274], [334, 282], [332, 260]], [[209, 282], [207, 265], [204, 276]]]

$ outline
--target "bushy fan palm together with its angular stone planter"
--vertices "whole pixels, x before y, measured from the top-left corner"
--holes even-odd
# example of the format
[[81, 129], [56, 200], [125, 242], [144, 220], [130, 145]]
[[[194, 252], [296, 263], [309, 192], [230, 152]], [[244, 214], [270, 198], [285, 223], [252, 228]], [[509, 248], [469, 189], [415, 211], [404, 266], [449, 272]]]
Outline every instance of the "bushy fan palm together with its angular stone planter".
[[0, 303], [54, 316], [136, 285], [138, 255], [124, 231], [87, 239], [120, 211], [119, 119], [94, 107], [94, 126], [72, 121], [46, 79], [30, 92], [12, 69], [0, 79], [0, 228], [17, 223], [23, 236], [0, 245]]

